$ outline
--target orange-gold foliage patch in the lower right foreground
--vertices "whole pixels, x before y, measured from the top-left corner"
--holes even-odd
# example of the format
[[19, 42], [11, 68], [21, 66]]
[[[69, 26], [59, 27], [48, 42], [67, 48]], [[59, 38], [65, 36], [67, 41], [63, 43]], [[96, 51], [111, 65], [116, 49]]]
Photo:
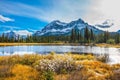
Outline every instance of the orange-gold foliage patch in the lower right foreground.
[[110, 79], [110, 77], [113, 75], [110, 65], [99, 61], [84, 60], [76, 62], [76, 64], [83, 65], [84, 67], [86, 67], [86, 69], [95, 74], [95, 76], [90, 78], [90, 80], [106, 80]]

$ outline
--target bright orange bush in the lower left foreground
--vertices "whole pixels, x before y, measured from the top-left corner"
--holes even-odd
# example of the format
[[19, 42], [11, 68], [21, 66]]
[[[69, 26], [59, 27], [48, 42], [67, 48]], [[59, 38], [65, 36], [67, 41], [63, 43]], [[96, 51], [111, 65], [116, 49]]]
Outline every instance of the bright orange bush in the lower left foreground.
[[32, 67], [16, 64], [12, 67], [11, 73], [13, 76], [5, 80], [38, 80], [39, 73]]

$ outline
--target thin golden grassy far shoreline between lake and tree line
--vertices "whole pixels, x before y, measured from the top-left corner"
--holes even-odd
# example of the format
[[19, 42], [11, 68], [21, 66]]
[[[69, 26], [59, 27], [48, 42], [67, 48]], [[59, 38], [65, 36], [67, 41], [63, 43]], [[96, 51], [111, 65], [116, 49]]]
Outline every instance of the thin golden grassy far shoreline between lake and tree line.
[[22, 46], [22, 45], [65, 45], [65, 46], [97, 46], [97, 47], [111, 47], [120, 48], [120, 44], [81, 44], [81, 43], [0, 43], [0, 46]]

